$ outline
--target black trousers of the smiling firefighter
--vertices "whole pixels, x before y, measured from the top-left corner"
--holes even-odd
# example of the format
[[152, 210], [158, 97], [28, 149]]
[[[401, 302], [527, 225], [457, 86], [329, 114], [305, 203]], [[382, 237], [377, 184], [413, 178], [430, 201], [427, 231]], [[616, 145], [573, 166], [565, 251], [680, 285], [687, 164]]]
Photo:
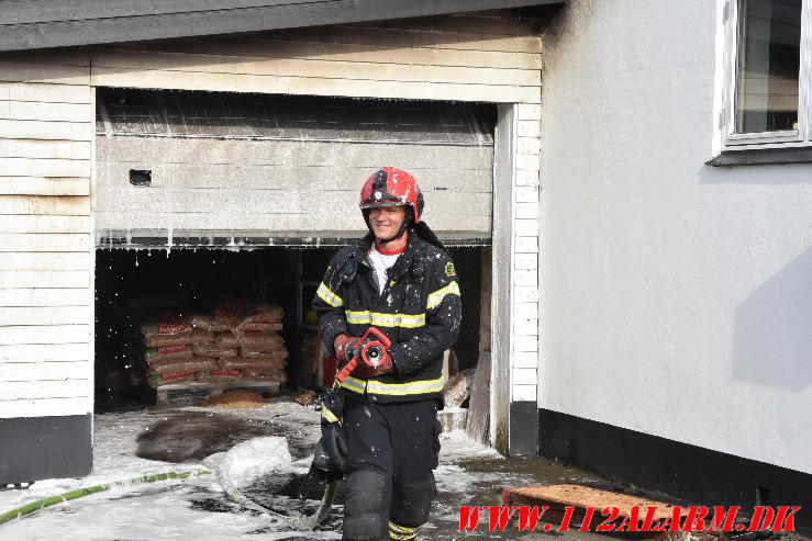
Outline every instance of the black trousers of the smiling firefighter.
[[345, 540], [388, 541], [389, 521], [419, 528], [429, 519], [437, 494], [432, 470], [440, 453], [438, 407], [436, 399], [376, 404], [345, 397]]

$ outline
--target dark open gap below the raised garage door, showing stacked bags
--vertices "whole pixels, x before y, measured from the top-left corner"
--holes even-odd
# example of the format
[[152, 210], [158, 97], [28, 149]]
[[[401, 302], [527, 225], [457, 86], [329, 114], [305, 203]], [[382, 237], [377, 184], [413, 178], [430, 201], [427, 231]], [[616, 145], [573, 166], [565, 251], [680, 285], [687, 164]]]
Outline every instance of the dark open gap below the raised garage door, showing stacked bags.
[[[97, 250], [97, 408], [329, 387], [334, 363], [310, 302], [336, 251]], [[477, 362], [482, 248], [451, 251], [465, 298], [457, 372]]]

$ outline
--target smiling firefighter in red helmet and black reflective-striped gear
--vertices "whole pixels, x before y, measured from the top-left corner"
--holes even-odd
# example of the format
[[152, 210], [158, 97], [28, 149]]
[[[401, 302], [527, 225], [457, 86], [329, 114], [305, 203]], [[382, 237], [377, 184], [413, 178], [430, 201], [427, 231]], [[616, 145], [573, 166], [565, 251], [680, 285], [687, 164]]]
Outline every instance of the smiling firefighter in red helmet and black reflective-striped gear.
[[344, 540], [411, 540], [437, 491], [443, 352], [461, 304], [451, 256], [423, 222], [411, 174], [383, 168], [360, 192], [369, 233], [330, 262], [313, 308], [340, 367], [374, 326], [391, 347], [359, 363], [329, 397], [314, 464], [346, 473]]

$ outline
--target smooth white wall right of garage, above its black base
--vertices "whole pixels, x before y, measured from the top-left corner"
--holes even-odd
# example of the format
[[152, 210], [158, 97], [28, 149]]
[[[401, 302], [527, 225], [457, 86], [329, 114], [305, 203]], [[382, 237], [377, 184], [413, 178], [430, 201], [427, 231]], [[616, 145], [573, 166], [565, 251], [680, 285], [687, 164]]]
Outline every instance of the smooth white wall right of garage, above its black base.
[[810, 473], [812, 165], [703, 165], [719, 13], [568, 0], [545, 34], [538, 402]]

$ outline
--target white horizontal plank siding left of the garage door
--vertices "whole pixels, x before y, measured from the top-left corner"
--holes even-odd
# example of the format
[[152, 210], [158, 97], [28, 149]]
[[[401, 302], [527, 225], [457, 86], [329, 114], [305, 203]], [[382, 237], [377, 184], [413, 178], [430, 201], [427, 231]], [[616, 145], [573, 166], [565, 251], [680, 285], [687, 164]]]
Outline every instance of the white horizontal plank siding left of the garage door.
[[89, 66], [0, 55], [0, 418], [92, 407]]

